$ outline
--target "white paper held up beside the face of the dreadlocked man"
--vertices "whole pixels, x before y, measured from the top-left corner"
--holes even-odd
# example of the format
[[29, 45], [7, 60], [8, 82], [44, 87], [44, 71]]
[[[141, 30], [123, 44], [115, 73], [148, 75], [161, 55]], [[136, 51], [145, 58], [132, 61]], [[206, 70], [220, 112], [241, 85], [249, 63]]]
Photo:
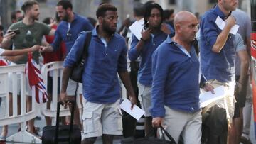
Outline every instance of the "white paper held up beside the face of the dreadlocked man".
[[129, 30], [136, 36], [138, 40], [142, 38], [142, 30], [144, 27], [144, 18], [140, 19], [139, 21], [135, 21], [129, 26]]

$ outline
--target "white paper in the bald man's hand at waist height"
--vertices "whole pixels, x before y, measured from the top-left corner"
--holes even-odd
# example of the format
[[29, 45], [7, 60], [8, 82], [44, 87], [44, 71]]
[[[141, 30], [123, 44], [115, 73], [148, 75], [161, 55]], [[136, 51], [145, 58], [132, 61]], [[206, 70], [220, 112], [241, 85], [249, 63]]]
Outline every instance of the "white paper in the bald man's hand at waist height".
[[216, 87], [214, 89], [214, 93], [215, 94], [212, 94], [211, 92], [204, 92], [200, 94], [199, 99], [200, 99], [201, 108], [208, 106], [208, 104], [214, 101], [223, 99], [225, 97], [225, 87], [224, 86]]

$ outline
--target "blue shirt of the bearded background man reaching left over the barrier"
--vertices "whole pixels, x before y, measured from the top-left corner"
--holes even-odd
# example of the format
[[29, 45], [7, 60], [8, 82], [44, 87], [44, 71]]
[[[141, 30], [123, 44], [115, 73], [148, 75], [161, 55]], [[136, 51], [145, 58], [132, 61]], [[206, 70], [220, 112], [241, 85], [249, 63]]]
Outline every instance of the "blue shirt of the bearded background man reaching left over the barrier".
[[92, 31], [93, 26], [87, 18], [79, 16], [76, 13], [74, 13], [74, 16], [73, 21], [70, 23], [70, 31], [68, 28], [68, 21], [61, 21], [58, 25], [58, 28], [55, 31], [53, 43], [51, 44], [54, 51], [60, 48], [60, 43], [63, 41], [68, 54], [81, 31]]

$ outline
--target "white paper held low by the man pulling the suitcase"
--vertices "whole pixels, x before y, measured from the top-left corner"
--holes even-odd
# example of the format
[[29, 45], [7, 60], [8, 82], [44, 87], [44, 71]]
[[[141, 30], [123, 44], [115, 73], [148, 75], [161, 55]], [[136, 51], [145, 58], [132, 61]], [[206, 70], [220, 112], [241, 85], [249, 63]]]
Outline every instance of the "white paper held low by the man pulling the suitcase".
[[134, 105], [133, 109], [131, 109], [131, 106], [131, 101], [129, 101], [128, 99], [124, 99], [124, 101], [122, 101], [122, 103], [120, 104], [122, 110], [129, 113], [129, 115], [131, 115], [138, 121], [139, 118], [141, 118], [144, 115], [145, 111], [143, 111], [136, 105]]

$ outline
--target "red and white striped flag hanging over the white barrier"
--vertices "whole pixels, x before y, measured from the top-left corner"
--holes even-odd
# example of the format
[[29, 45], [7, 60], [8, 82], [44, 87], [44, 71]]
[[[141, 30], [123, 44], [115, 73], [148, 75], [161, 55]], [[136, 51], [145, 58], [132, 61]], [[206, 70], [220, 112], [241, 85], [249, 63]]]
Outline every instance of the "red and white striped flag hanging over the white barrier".
[[46, 86], [43, 83], [41, 72], [36, 62], [32, 59], [31, 52], [28, 53], [28, 62], [26, 63], [26, 75], [28, 77], [28, 83], [32, 90], [32, 96], [36, 97], [36, 102], [41, 104], [48, 101], [48, 93]]

